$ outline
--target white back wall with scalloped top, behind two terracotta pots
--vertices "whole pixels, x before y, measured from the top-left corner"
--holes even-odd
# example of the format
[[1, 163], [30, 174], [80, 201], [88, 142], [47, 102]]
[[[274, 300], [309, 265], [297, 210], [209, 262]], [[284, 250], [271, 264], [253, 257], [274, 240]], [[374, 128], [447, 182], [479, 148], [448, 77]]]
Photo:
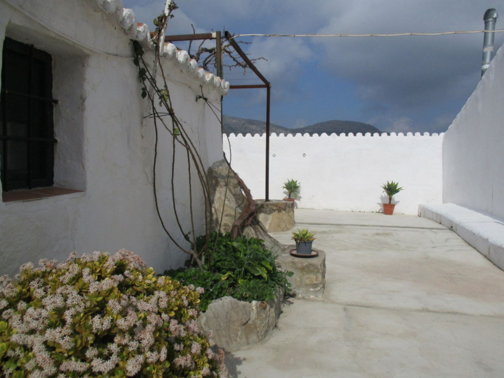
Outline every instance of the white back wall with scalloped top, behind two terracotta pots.
[[[229, 137], [231, 166], [254, 198], [265, 197], [266, 135]], [[229, 159], [229, 144], [223, 136]], [[396, 212], [417, 214], [419, 204], [442, 203], [443, 134], [402, 133], [390, 136], [308, 134], [270, 138], [270, 199], [282, 199], [282, 184], [301, 182], [299, 208], [377, 212], [388, 202], [381, 188], [399, 181]]]

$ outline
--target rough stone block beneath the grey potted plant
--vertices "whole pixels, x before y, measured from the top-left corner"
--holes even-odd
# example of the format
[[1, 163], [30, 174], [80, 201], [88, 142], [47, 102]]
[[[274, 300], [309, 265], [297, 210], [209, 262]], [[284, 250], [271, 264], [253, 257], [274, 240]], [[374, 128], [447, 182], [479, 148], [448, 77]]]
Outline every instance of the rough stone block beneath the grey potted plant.
[[289, 250], [277, 257], [277, 266], [283, 270], [294, 272], [288, 280], [292, 285], [292, 293], [300, 298], [316, 298], [324, 294], [326, 284], [326, 253], [321, 250], [319, 256], [299, 258], [289, 254]]

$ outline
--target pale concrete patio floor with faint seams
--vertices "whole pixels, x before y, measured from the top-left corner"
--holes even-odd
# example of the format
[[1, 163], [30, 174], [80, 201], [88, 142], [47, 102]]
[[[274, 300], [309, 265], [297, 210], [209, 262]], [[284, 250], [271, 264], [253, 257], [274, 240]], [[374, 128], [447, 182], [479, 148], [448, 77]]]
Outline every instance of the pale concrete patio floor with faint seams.
[[295, 216], [326, 251], [324, 296], [290, 299], [266, 340], [227, 354], [232, 376], [504, 376], [504, 272], [458, 235], [400, 214]]

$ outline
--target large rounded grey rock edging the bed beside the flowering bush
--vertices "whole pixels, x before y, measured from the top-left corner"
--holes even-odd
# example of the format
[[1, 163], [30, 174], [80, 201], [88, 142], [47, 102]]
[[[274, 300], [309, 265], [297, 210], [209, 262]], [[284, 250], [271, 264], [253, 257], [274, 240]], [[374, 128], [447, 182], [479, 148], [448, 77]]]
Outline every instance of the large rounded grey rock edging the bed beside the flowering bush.
[[283, 291], [268, 302], [243, 302], [232, 297], [214, 300], [198, 318], [199, 328], [217, 346], [232, 351], [263, 340], [277, 326], [282, 310]]

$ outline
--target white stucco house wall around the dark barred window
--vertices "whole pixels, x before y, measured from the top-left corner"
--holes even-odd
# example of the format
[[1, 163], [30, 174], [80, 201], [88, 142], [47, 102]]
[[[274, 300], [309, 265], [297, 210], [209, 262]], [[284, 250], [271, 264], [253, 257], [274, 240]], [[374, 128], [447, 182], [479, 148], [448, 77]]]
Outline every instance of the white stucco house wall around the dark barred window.
[[[59, 99], [54, 108], [58, 140], [54, 180], [83, 192], [0, 202], [0, 274], [17, 273], [19, 265], [28, 261], [65, 259], [73, 250], [127, 248], [158, 272], [181, 265], [186, 255], [164, 233], [154, 204], [154, 125], [144, 119], [148, 104], [140, 96], [142, 85], [130, 41], [143, 28], [138, 31], [134, 19], [126, 20], [128, 11], [113, 8], [107, 14], [96, 6], [100, 2], [91, 0], [10, 2], [22, 11], [0, 0], [0, 47], [7, 35], [53, 56], [53, 95]], [[145, 40], [142, 43], [146, 45]], [[194, 61], [175, 53], [170, 50], [168, 55], [173, 56], [162, 59], [173, 108], [186, 122], [208, 167], [222, 158], [221, 127], [208, 105], [195, 99], [203, 88], [205, 96], [220, 106], [225, 88], [220, 79], [197, 71]], [[145, 57], [153, 60], [151, 52]], [[176, 239], [187, 247], [173, 216], [172, 139], [162, 125], [158, 151], [161, 213]], [[175, 196], [182, 226], [190, 231], [186, 161], [185, 150], [178, 147]], [[195, 169], [193, 174], [195, 226], [201, 234], [202, 192]]]

